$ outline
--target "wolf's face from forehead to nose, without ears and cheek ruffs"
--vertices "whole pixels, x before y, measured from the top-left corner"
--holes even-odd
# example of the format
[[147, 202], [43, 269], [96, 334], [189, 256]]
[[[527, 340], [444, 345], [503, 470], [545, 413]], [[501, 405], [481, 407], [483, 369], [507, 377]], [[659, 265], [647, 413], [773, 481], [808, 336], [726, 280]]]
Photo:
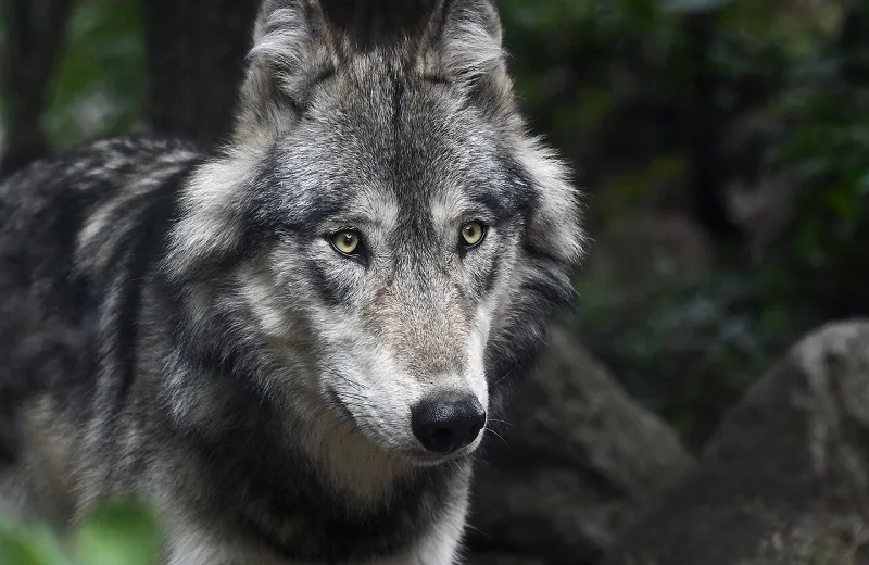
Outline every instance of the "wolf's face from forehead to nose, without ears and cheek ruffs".
[[478, 112], [376, 63], [336, 75], [323, 87], [336, 92], [275, 143], [269, 200], [304, 217], [244, 293], [277, 343], [307, 328], [323, 398], [378, 444], [428, 461], [479, 442], [486, 344], [533, 194]]

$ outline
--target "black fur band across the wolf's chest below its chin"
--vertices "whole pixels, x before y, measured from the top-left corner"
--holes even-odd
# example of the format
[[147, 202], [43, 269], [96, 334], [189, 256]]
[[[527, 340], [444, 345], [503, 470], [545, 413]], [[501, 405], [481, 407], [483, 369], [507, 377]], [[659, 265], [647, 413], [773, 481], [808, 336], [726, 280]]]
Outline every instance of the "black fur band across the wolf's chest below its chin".
[[[455, 464], [420, 468], [396, 485], [388, 502], [351, 512], [322, 485], [303, 454], [267, 451], [267, 445], [280, 442], [274, 427], [266, 424], [278, 419], [267, 401], [243, 390], [236, 398], [261, 416], [252, 427], [235, 426], [216, 439], [196, 429], [182, 434], [223, 493], [226, 514], [236, 516], [248, 536], [282, 557], [353, 563], [387, 556], [411, 547], [443, 512], [439, 501], [457, 473]], [[286, 519], [303, 519], [308, 527], [287, 538], [275, 527]]]

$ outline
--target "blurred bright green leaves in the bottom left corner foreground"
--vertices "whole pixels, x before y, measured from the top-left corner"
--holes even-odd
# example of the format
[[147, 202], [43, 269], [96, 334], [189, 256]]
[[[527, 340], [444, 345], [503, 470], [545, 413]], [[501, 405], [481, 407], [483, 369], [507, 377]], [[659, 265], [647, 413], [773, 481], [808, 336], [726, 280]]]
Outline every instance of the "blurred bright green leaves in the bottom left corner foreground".
[[0, 520], [0, 563], [154, 565], [160, 540], [150, 508], [133, 500], [114, 500], [97, 506], [67, 536], [42, 524]]

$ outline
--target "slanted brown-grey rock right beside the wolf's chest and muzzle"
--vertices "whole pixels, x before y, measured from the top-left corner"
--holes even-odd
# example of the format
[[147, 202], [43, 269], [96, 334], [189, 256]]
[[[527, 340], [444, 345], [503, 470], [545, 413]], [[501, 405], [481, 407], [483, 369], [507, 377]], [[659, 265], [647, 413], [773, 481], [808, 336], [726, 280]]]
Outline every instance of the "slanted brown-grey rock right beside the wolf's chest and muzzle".
[[513, 407], [503, 442], [489, 439], [471, 518], [471, 545], [502, 556], [471, 563], [599, 563], [626, 515], [693, 467], [676, 434], [559, 329]]

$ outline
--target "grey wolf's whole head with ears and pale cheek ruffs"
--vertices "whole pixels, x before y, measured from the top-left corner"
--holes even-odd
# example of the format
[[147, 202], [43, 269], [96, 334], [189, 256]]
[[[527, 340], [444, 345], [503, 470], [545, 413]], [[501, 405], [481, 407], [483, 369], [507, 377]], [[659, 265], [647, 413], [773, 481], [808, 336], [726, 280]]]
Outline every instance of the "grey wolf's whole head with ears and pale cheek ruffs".
[[198, 354], [276, 414], [434, 464], [479, 444], [570, 302], [581, 204], [526, 134], [492, 2], [401, 26], [366, 5], [263, 4], [164, 267]]

